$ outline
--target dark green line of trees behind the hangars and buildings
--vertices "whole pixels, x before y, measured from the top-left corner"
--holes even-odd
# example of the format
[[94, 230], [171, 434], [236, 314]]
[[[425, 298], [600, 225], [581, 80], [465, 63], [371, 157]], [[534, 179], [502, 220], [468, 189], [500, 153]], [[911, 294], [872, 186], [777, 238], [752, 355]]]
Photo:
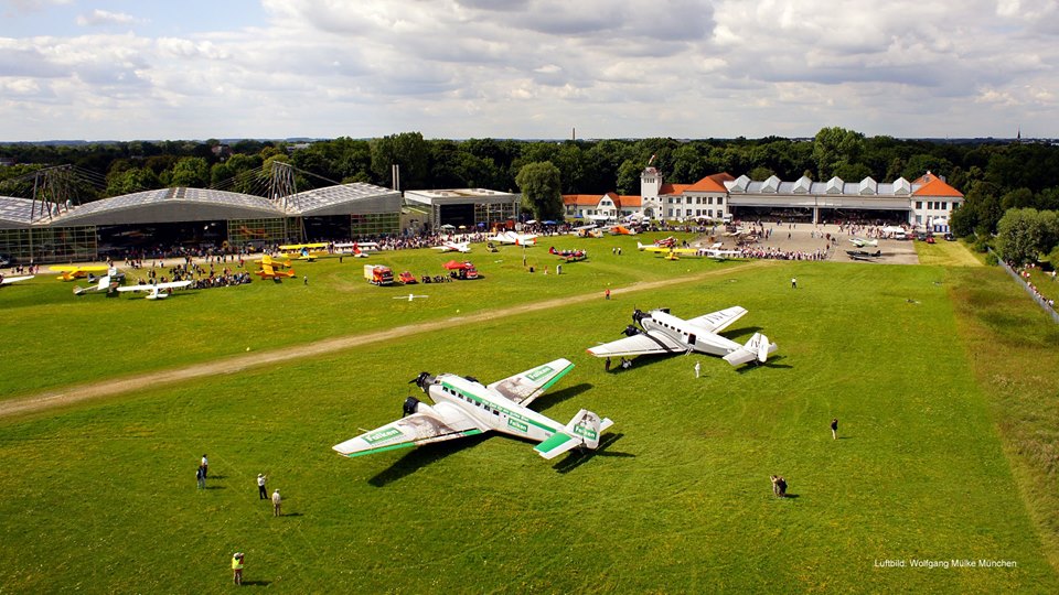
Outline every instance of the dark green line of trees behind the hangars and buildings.
[[[17, 164], [0, 167], [0, 194], [30, 184], [26, 174], [72, 164], [93, 184], [78, 199], [170, 186], [216, 187], [260, 194], [274, 161], [297, 172], [299, 191], [332, 183], [367, 182], [392, 186], [392, 165], [400, 166], [403, 190], [483, 187], [524, 192], [526, 206], [552, 218], [561, 213], [556, 194], [640, 193], [640, 173], [649, 161], [667, 182], [694, 183], [728, 172], [752, 180], [777, 175], [793, 181], [838, 176], [913, 181], [928, 170], [965, 195], [953, 216], [962, 237], [992, 238], [1013, 209], [1059, 210], [1059, 147], [996, 140], [937, 141], [865, 137], [844, 128], [823, 128], [813, 139], [671, 138], [566, 141], [513, 139], [424, 139], [402, 132], [376, 139], [346, 137], [308, 143], [240, 140], [130, 141], [89, 144], [12, 143], [0, 156]], [[541, 164], [549, 163], [554, 170]], [[533, 165], [526, 172], [523, 170]], [[522, 180], [520, 181], [520, 173]], [[556, 177], [557, 176], [557, 177]], [[4, 182], [9, 183], [4, 183]], [[1050, 248], [1049, 248], [1050, 250]], [[1046, 250], [1047, 252], [1047, 250]]]

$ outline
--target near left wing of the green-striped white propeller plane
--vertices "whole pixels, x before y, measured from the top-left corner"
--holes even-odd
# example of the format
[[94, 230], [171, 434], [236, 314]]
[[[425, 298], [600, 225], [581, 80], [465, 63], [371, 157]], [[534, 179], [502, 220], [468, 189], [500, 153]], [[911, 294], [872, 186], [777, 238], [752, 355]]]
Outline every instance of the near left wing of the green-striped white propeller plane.
[[[442, 404], [439, 403], [431, 410], [438, 410], [441, 407]], [[339, 454], [354, 457], [482, 433], [482, 430], [474, 424], [471, 418], [456, 407], [445, 409], [445, 420], [441, 421], [430, 413], [413, 413], [341, 444], [335, 444], [332, 448]]]

